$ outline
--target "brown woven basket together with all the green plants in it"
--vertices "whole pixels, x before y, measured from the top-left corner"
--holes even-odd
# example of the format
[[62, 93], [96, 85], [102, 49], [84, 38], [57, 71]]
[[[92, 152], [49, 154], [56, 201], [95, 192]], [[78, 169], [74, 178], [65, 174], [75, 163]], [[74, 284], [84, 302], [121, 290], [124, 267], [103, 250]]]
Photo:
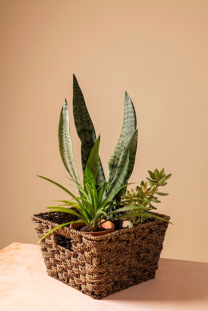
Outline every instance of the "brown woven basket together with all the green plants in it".
[[[82, 142], [83, 184], [80, 181], [69, 130], [65, 100], [59, 121], [59, 149], [63, 163], [79, 194], [73, 194], [55, 181], [70, 199], [49, 207], [50, 212], [32, 215], [40, 239], [48, 275], [95, 299], [154, 278], [170, 218], [150, 212], [156, 195], [171, 174], [164, 169], [149, 171], [150, 178], [126, 190], [137, 149], [134, 106], [127, 92], [124, 120], [118, 144], [108, 162], [107, 177], [99, 157], [100, 136], [88, 113], [82, 91], [73, 75], [73, 114]], [[126, 228], [122, 220], [128, 221]], [[108, 221], [115, 231], [105, 234]], [[85, 226], [84, 232], [77, 230]], [[72, 224], [76, 228], [70, 228]], [[105, 226], [108, 228], [108, 225]], [[86, 232], [87, 231], [87, 232]], [[101, 231], [101, 236], [97, 233]], [[87, 234], [90, 233], [90, 234]], [[96, 234], [96, 235], [94, 235]]]

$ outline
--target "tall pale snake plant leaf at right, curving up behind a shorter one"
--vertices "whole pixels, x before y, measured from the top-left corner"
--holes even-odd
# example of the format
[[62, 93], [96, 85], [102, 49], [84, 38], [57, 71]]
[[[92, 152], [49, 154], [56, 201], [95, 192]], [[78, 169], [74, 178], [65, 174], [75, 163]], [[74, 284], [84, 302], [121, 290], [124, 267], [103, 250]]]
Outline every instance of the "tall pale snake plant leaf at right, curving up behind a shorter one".
[[125, 92], [123, 126], [117, 146], [115, 147], [115, 150], [108, 162], [107, 181], [112, 182], [116, 174], [116, 169], [120, 160], [121, 153], [124, 150], [124, 148], [126, 148], [126, 146], [128, 145], [129, 140], [131, 139], [135, 130], [136, 130], [135, 109], [128, 93]]

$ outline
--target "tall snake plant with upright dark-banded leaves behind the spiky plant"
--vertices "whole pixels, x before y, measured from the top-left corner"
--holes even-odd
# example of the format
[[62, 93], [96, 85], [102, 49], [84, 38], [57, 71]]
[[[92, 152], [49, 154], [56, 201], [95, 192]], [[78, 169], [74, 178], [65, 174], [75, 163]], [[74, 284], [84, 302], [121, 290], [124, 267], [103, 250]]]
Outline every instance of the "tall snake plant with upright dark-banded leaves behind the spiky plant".
[[[81, 157], [84, 172], [89, 155], [97, 139], [93, 122], [75, 75], [73, 75], [73, 115], [77, 134], [82, 143]], [[111, 185], [106, 189], [105, 195], [112, 194], [117, 189], [120, 189], [119, 192], [116, 191], [116, 195], [114, 195], [114, 199], [117, 201], [119, 201], [121, 195], [125, 193], [126, 187], [122, 186], [127, 184], [133, 170], [137, 148], [137, 135], [134, 106], [129, 95], [125, 92], [123, 126], [117, 146], [108, 162], [106, 180], [100, 158], [98, 170], [96, 170], [96, 173], [94, 172], [98, 191], [102, 189], [105, 182], [109, 182]], [[76, 183], [81, 185], [72, 148], [72, 139], [69, 129], [69, 111], [66, 100], [63, 104], [59, 121], [59, 149], [63, 163], [69, 174]]]

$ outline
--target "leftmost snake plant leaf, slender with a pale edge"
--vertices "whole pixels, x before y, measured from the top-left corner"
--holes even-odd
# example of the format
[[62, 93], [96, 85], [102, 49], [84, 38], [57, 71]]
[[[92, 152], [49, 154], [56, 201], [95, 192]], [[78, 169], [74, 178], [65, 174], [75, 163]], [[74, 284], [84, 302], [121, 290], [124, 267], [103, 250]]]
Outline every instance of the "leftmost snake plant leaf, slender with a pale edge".
[[66, 99], [62, 106], [60, 114], [58, 137], [59, 150], [64, 166], [66, 167], [72, 178], [80, 184], [77, 164], [72, 149], [72, 139], [69, 128], [69, 110]]

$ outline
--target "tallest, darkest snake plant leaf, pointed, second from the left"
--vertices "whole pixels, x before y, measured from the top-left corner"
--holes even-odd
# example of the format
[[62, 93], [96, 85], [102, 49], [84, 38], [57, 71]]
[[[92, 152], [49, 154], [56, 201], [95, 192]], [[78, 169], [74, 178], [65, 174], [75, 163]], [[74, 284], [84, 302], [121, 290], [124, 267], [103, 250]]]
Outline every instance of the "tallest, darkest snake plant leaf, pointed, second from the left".
[[[96, 143], [96, 132], [91, 117], [89, 115], [83, 93], [75, 75], [73, 75], [73, 114], [77, 134], [82, 142], [81, 157], [82, 168], [84, 172], [88, 157], [94, 144]], [[99, 173], [97, 184], [103, 185], [104, 181], [104, 170], [101, 160], [99, 159]]]

